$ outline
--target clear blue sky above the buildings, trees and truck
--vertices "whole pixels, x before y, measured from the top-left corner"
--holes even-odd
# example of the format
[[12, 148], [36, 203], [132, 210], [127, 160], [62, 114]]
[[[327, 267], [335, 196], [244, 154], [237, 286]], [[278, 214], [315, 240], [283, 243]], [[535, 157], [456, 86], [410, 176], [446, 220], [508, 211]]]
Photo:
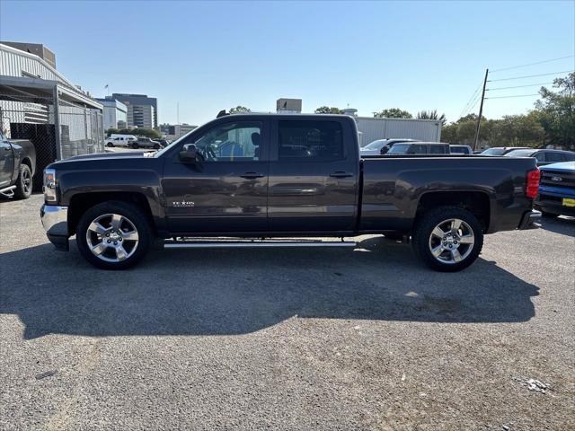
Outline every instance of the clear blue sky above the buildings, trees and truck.
[[[572, 55], [575, 2], [2, 0], [0, 40], [44, 43], [57, 69], [94, 96], [110, 84], [111, 92], [157, 97], [160, 122], [176, 121], [178, 101], [180, 121], [199, 124], [238, 104], [275, 110], [279, 97], [303, 99], [307, 112], [349, 104], [359, 115], [437, 109], [455, 120], [485, 67]], [[572, 69], [571, 57], [491, 77]], [[489, 100], [484, 114], [523, 113], [535, 100]]]

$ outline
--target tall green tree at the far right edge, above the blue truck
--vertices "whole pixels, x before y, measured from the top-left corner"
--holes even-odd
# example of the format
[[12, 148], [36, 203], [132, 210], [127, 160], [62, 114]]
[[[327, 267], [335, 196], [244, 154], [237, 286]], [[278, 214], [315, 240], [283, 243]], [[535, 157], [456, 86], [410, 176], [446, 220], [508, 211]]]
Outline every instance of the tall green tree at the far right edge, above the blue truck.
[[575, 150], [575, 72], [553, 81], [553, 92], [541, 87], [534, 116], [546, 133], [546, 144]]

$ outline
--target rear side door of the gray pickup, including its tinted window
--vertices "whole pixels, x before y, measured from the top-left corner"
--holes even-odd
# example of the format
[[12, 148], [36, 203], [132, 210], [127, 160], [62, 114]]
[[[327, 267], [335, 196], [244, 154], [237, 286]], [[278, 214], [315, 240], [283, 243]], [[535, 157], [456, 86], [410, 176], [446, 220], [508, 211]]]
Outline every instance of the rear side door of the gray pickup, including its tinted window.
[[347, 130], [337, 121], [279, 120], [270, 138], [270, 231], [353, 231], [358, 163], [344, 146], [353, 139]]

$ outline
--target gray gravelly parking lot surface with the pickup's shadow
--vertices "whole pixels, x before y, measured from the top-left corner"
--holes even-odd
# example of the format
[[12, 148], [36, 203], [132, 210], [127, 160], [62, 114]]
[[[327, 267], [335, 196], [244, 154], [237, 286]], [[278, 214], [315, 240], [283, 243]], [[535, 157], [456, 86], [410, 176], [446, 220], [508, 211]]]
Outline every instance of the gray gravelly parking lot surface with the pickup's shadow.
[[106, 272], [41, 200], [0, 202], [0, 429], [575, 429], [574, 219], [458, 274], [376, 236]]

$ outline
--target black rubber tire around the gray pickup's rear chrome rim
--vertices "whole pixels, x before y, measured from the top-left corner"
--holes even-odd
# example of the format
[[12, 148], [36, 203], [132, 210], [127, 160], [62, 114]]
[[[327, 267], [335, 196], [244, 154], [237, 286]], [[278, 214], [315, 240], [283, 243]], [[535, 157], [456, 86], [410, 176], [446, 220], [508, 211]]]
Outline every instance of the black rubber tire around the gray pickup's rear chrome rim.
[[[461, 224], [462, 231], [456, 236], [451, 236], [453, 231], [445, 231], [447, 240], [438, 240], [438, 235], [434, 233], [437, 226], [450, 223], [449, 221], [457, 219], [463, 221]], [[442, 272], [456, 272], [469, 267], [475, 259], [479, 257], [483, 247], [483, 229], [482, 225], [472, 213], [459, 207], [438, 207], [420, 216], [413, 233], [412, 246], [418, 257], [432, 269]], [[442, 228], [440, 230], [443, 231]], [[470, 231], [473, 233], [473, 244], [464, 243], [464, 236], [460, 235]], [[454, 241], [454, 238], [459, 241]], [[439, 242], [439, 243], [438, 243]], [[431, 251], [432, 244], [438, 243], [440, 248], [434, 250], [443, 250], [438, 257], [435, 257]], [[443, 245], [447, 244], [447, 245]], [[457, 245], [458, 244], [458, 245]], [[453, 249], [451, 248], [453, 247]], [[459, 249], [461, 247], [461, 249]], [[461, 254], [463, 252], [463, 255]], [[457, 253], [460, 260], [456, 259]], [[451, 259], [449, 262], [447, 259]]]

